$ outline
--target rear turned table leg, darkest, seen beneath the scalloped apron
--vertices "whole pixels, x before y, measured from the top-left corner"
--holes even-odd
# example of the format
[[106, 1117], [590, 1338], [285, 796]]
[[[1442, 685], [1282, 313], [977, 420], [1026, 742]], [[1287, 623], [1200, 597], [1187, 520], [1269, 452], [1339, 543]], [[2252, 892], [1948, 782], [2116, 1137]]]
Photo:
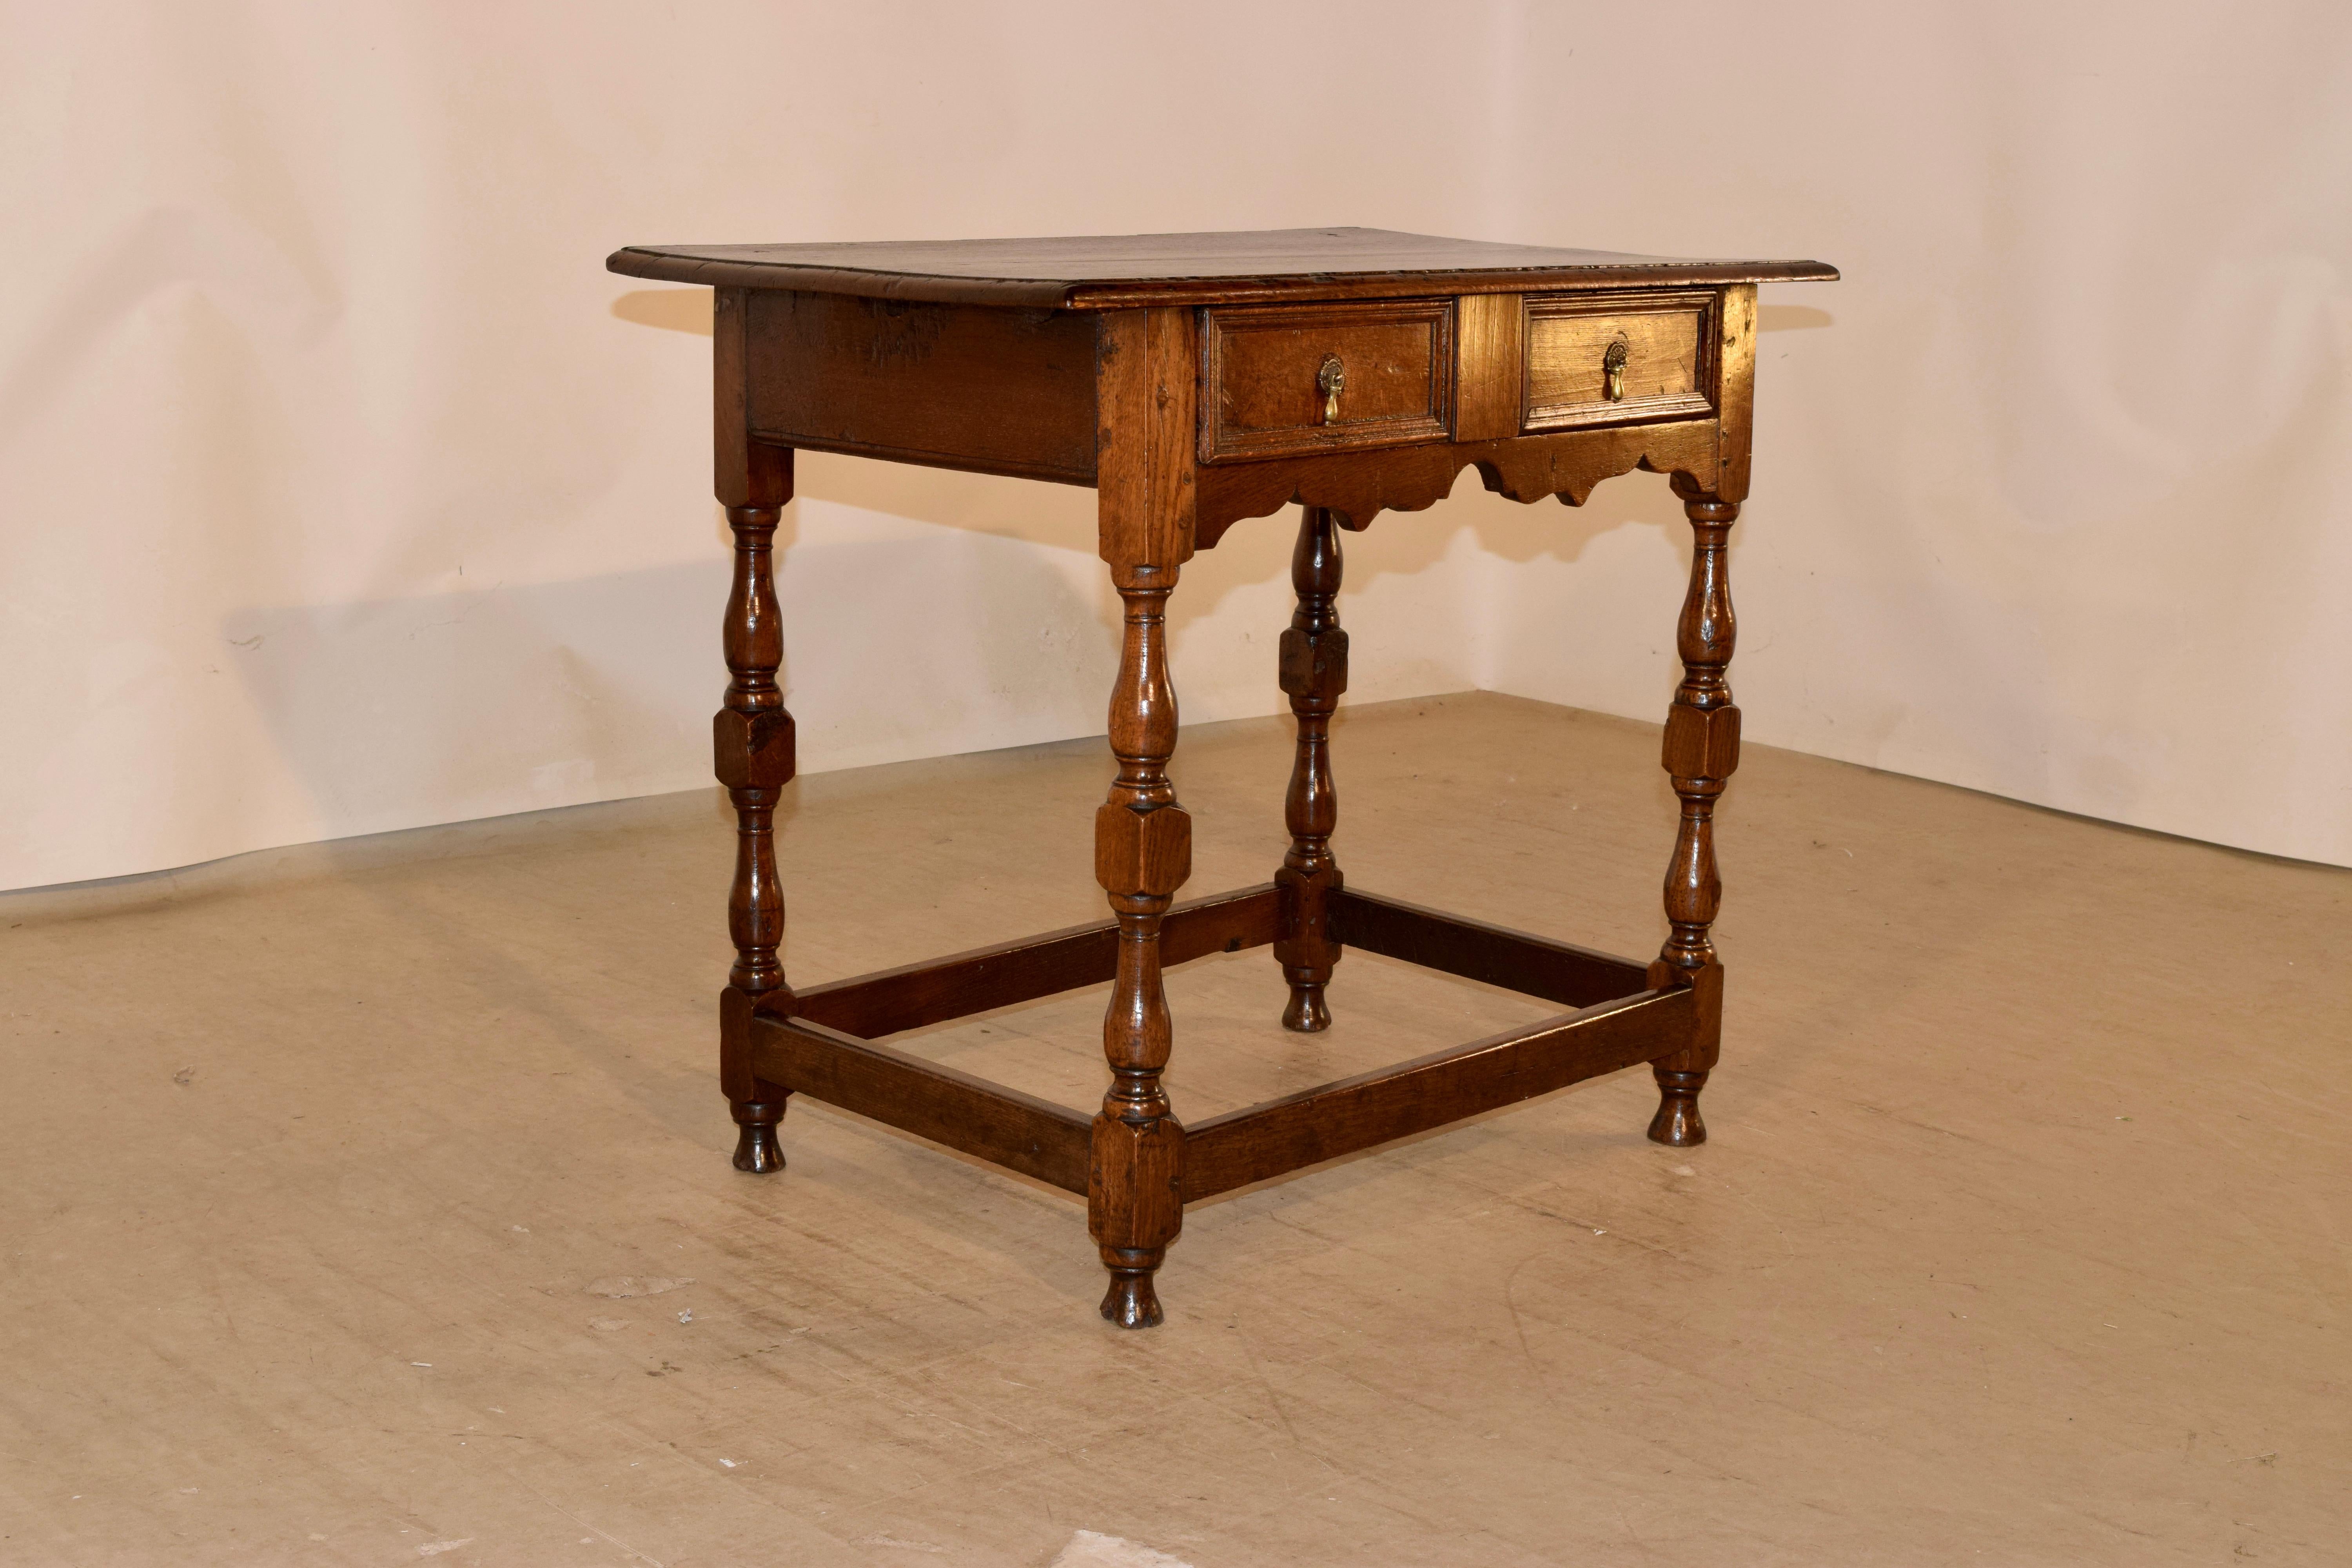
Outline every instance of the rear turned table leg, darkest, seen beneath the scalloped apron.
[[1275, 961], [1291, 983], [1291, 1001], [1282, 1009], [1282, 1027], [1315, 1034], [1331, 1027], [1324, 987], [1341, 947], [1331, 940], [1329, 896], [1341, 886], [1338, 860], [1331, 858], [1331, 830], [1338, 827], [1338, 790], [1331, 785], [1331, 712], [1348, 689], [1348, 632], [1338, 625], [1338, 529], [1319, 505], [1303, 508], [1298, 545], [1291, 550], [1291, 588], [1298, 609], [1282, 632], [1282, 689], [1298, 719], [1298, 752], [1291, 759], [1291, 792], [1282, 802], [1282, 820], [1291, 830], [1291, 849], [1282, 856], [1275, 886], [1282, 889], [1282, 936], [1275, 938]]

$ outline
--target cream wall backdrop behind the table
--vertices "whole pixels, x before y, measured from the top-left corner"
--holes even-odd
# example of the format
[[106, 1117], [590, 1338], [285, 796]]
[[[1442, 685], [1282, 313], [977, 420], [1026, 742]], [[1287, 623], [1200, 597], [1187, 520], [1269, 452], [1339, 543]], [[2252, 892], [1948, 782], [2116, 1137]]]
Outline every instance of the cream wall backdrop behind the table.
[[[7, 0], [0, 886], [708, 778], [708, 303], [614, 244], [1296, 223], [1844, 266], [1766, 289], [1748, 733], [2352, 863], [2352, 12], [2164, 14]], [[1101, 731], [1087, 491], [800, 491], [807, 769]], [[1188, 719], [1275, 710], [1287, 531]], [[1348, 543], [1352, 696], [1663, 712], [1661, 480]]]

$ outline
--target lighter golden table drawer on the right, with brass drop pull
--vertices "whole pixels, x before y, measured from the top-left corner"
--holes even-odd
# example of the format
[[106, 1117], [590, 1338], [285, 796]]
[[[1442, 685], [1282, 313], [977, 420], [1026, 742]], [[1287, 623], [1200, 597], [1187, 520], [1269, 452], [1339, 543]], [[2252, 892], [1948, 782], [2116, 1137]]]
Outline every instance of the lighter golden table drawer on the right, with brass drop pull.
[[1519, 428], [1710, 414], [1715, 310], [1712, 292], [1529, 296]]

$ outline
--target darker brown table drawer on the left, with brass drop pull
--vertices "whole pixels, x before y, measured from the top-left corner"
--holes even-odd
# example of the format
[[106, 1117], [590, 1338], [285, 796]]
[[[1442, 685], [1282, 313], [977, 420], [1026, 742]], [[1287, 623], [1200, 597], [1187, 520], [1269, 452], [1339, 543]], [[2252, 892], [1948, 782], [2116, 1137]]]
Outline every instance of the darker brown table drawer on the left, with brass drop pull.
[[1454, 301], [1211, 308], [1204, 463], [1442, 442], [1454, 423]]

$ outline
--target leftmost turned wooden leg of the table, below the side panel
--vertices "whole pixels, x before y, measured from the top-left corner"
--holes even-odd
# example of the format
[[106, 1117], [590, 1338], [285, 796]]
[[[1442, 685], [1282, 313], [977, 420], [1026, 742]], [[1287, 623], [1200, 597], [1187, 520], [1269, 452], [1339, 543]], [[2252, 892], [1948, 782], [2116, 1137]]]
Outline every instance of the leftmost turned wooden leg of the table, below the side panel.
[[781, 1171], [776, 1124], [790, 1093], [750, 1074], [746, 1037], [753, 999], [790, 990], [776, 947], [783, 943], [783, 889], [776, 884], [776, 802], [793, 780], [793, 715], [776, 686], [783, 628], [769, 564], [783, 508], [729, 505], [736, 536], [734, 590], [727, 595], [727, 701], [713, 719], [713, 771], [736, 809], [736, 875], [727, 896], [727, 931], [736, 961], [727, 973], [720, 1079], [736, 1119], [736, 1171]]

